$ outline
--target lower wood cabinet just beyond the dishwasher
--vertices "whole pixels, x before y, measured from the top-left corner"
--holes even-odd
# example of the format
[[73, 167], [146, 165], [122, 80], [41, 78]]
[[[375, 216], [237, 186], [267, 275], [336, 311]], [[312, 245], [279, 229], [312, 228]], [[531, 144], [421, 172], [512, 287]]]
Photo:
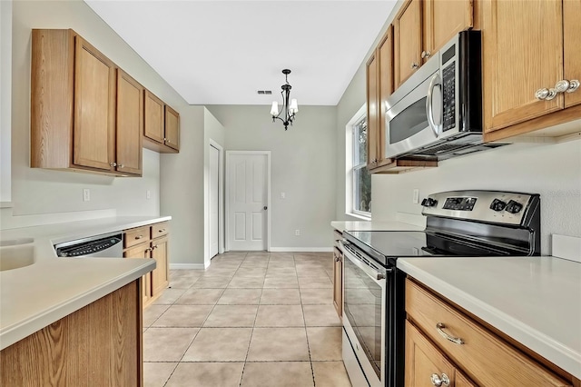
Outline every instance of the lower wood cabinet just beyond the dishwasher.
[[124, 258], [150, 258], [156, 263], [155, 270], [142, 277], [143, 307], [153, 303], [169, 284], [168, 234], [167, 222], [123, 232]]

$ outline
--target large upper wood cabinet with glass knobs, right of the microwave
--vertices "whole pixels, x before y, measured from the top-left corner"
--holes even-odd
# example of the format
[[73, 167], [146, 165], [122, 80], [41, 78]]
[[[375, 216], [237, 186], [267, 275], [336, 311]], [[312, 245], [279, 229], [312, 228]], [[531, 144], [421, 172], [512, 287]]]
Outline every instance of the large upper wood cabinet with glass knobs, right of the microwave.
[[581, 88], [559, 93], [557, 87], [581, 81], [580, 18], [581, 0], [483, 2], [486, 140], [581, 117]]

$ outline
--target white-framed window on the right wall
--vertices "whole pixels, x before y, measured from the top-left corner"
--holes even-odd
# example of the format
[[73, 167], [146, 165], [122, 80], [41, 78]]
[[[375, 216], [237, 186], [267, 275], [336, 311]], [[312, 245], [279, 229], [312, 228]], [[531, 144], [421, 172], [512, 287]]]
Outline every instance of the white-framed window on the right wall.
[[367, 171], [367, 114], [365, 105], [347, 124], [346, 136], [346, 213], [371, 217], [371, 175]]

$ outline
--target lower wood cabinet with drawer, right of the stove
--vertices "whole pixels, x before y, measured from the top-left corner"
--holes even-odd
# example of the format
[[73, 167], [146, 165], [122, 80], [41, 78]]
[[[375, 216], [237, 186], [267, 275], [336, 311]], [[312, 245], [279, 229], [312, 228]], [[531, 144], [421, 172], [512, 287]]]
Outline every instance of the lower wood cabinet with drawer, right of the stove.
[[501, 333], [409, 279], [406, 312], [407, 386], [434, 385], [432, 375], [442, 380], [443, 373], [450, 386], [578, 385], [554, 364], [517, 348]]

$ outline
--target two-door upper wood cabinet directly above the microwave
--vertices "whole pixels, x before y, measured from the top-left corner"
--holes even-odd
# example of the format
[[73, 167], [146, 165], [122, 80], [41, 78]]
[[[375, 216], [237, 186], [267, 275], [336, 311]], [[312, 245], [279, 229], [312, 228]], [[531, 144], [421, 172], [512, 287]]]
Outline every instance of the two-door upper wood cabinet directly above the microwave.
[[434, 55], [460, 31], [471, 28], [472, 0], [408, 0], [394, 25], [395, 87]]

